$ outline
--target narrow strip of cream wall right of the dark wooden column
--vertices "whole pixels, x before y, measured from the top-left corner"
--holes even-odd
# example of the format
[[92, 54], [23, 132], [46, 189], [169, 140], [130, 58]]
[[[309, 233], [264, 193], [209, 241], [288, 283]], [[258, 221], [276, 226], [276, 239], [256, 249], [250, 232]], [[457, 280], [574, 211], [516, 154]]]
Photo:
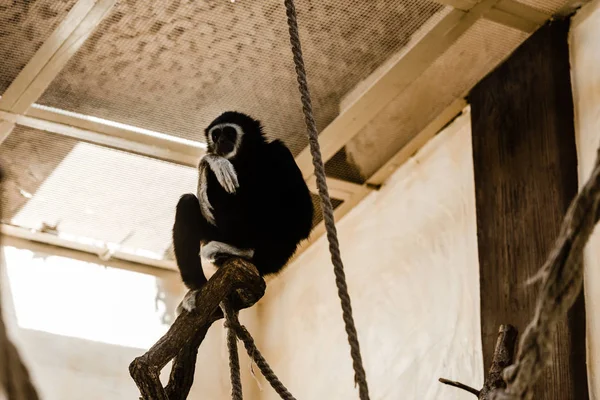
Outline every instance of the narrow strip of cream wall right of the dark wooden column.
[[[570, 35], [571, 79], [580, 186], [588, 179], [600, 144], [600, 2], [582, 8]], [[600, 231], [585, 250], [588, 378], [590, 397], [600, 399]]]

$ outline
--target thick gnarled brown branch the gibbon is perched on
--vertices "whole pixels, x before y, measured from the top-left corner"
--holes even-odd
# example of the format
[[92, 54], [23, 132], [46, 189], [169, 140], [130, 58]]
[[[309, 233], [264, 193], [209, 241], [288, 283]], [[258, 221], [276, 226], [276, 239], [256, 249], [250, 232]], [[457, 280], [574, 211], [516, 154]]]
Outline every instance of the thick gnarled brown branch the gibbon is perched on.
[[[192, 386], [198, 347], [213, 322], [223, 317], [219, 304], [228, 299], [240, 310], [254, 305], [265, 292], [256, 267], [232, 258], [221, 266], [196, 294], [193, 312], [182, 311], [169, 331], [129, 365], [129, 372], [144, 400], [184, 400]], [[160, 371], [174, 360], [169, 384], [162, 387]]]

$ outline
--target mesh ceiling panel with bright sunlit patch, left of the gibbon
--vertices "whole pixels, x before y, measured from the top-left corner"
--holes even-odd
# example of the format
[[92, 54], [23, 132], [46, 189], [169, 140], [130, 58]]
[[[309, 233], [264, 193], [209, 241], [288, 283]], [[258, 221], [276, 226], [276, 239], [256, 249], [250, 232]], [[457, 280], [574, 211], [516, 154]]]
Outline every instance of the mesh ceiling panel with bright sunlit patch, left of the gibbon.
[[[0, 146], [3, 222], [123, 252], [169, 259], [175, 205], [195, 168], [17, 126]], [[322, 220], [313, 195], [316, 225]], [[341, 201], [334, 200], [337, 207]]]

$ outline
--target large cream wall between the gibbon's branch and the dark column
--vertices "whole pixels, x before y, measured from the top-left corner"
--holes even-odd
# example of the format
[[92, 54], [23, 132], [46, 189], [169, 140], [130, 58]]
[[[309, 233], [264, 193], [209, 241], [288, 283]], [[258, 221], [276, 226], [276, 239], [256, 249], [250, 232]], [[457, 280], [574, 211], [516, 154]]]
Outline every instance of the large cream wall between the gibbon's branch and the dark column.
[[[338, 225], [373, 400], [468, 400], [437, 379], [483, 383], [469, 119]], [[323, 238], [259, 303], [261, 349], [299, 399], [357, 398], [336, 293]]]

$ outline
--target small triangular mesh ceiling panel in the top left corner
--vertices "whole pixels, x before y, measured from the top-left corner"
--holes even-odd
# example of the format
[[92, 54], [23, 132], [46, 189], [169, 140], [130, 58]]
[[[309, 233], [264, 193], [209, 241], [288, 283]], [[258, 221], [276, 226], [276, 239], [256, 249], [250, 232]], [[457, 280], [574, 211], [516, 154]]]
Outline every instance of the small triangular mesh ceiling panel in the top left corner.
[[0, 0], [0, 94], [74, 4], [75, 0]]

